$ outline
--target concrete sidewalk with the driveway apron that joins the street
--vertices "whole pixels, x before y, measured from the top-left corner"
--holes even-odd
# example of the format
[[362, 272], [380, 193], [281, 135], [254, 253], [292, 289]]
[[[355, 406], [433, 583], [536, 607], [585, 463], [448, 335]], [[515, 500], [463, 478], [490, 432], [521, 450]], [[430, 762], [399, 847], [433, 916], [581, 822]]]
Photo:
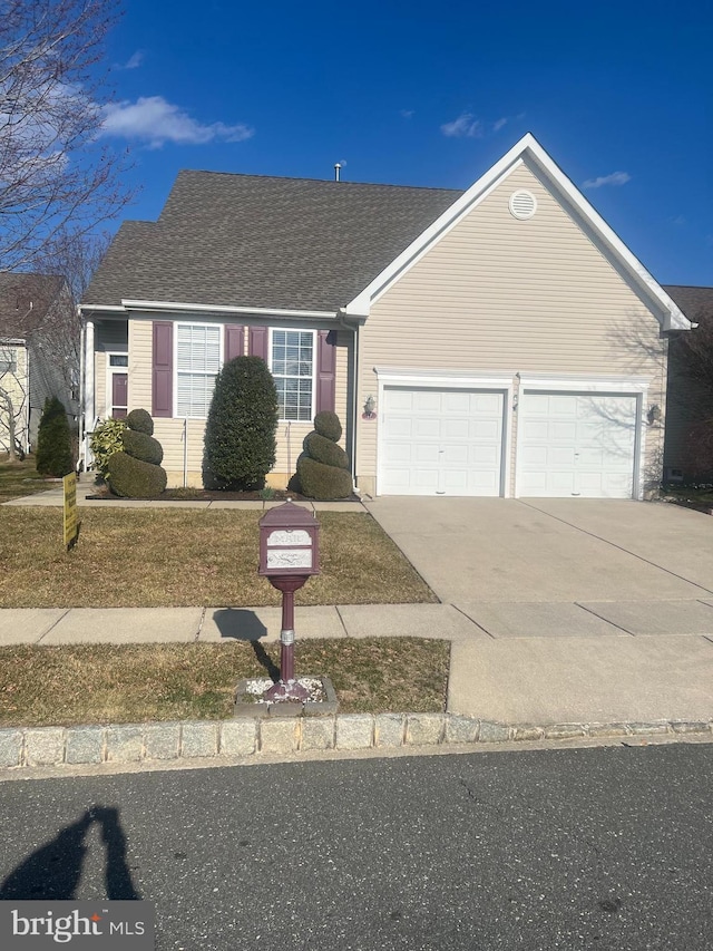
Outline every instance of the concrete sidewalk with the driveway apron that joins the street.
[[[597, 605], [619, 624], [629, 606]], [[451, 604], [297, 608], [295, 622], [297, 640], [449, 640], [450, 714], [510, 725], [713, 719], [713, 604], [657, 606], [651, 632], [560, 602], [484, 602], [470, 617]], [[279, 608], [4, 609], [0, 646], [274, 641], [280, 622]]]

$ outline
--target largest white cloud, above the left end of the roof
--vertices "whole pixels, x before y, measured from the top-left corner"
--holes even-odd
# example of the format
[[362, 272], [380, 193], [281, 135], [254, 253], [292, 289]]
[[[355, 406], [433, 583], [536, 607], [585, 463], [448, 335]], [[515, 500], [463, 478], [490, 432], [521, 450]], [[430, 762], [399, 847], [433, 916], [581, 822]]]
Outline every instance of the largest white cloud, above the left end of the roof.
[[202, 125], [179, 106], [163, 96], [140, 96], [136, 103], [124, 100], [105, 108], [101, 134], [117, 138], [139, 139], [149, 148], [167, 142], [176, 145], [205, 145], [208, 142], [243, 142], [255, 133], [250, 126], [225, 123]]

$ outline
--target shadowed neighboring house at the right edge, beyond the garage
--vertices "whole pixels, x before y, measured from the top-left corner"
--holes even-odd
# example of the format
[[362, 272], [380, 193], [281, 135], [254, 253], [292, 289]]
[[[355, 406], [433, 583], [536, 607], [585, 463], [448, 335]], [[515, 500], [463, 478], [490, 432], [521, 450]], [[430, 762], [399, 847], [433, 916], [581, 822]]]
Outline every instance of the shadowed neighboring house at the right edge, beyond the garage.
[[691, 333], [673, 333], [670, 341], [664, 479], [711, 482], [713, 288], [666, 285], [664, 290], [695, 328]]

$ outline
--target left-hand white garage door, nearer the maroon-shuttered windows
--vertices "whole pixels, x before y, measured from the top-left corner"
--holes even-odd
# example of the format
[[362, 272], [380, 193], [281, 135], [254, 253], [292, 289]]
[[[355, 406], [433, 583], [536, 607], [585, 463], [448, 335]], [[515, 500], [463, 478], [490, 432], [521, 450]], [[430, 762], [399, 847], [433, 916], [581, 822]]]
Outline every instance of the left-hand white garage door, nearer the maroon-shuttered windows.
[[382, 495], [499, 495], [504, 394], [387, 387]]

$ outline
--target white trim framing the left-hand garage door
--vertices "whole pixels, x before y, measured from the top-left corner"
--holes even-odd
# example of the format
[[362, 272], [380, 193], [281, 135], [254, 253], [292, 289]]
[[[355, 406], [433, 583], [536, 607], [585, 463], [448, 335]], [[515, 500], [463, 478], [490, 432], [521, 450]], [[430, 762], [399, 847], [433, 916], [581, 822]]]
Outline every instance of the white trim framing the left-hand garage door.
[[[377, 404], [377, 495], [383, 485], [383, 391], [387, 387], [422, 387], [427, 389], [469, 389], [496, 390], [502, 394], [502, 445], [500, 447], [500, 492], [501, 498], [510, 495], [510, 445], [512, 440], [512, 395], [515, 373], [469, 373], [463, 370], [416, 370], [374, 367], [378, 377]], [[372, 424], [373, 425], [373, 424]]]

